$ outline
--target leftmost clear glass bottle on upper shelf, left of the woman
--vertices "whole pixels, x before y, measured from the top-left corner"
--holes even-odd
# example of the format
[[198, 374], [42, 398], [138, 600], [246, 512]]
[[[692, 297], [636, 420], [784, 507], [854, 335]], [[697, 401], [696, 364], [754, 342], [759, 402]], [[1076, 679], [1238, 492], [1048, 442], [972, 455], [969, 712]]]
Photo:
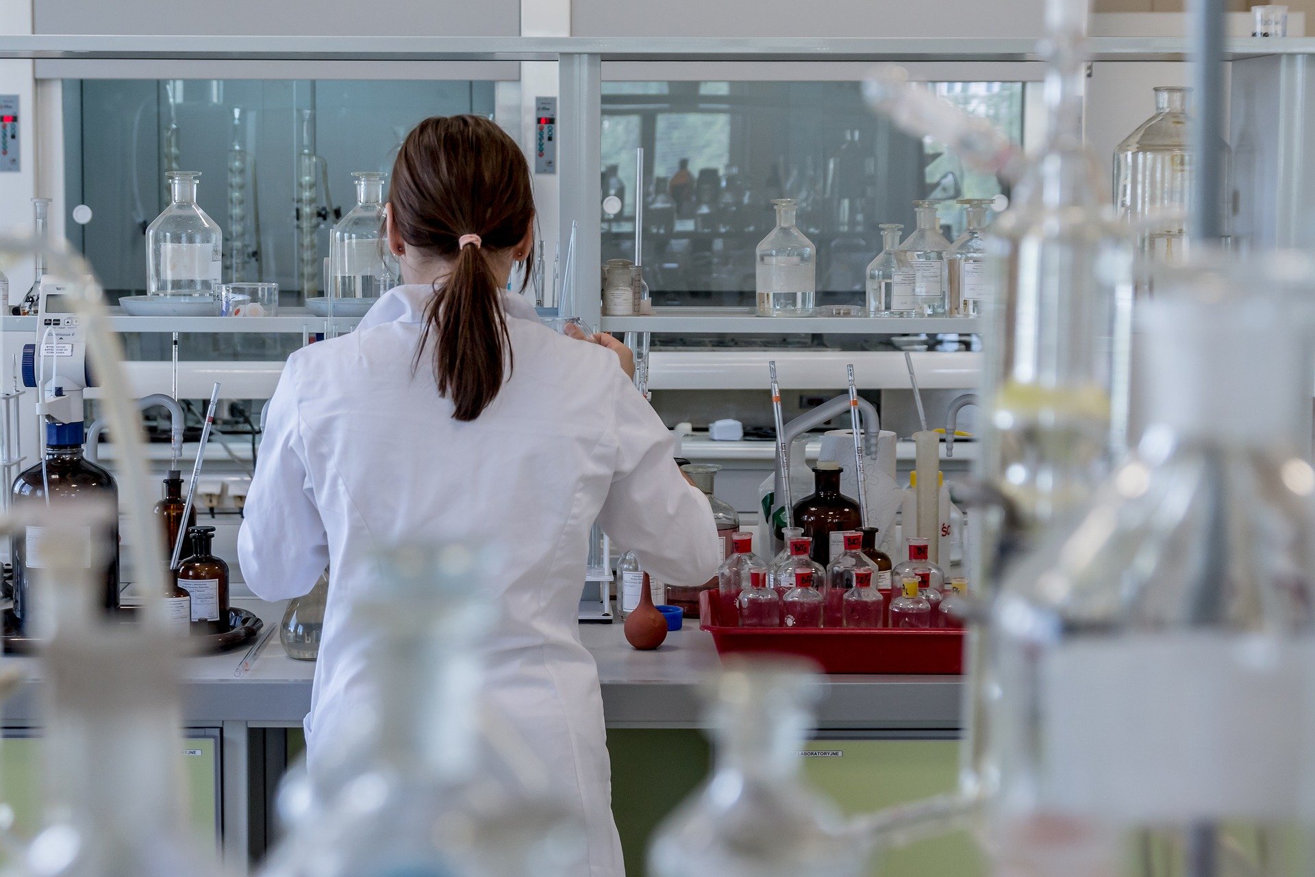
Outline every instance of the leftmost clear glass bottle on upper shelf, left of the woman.
[[170, 205], [146, 226], [146, 292], [212, 295], [224, 264], [224, 233], [196, 202], [200, 171], [170, 171]]

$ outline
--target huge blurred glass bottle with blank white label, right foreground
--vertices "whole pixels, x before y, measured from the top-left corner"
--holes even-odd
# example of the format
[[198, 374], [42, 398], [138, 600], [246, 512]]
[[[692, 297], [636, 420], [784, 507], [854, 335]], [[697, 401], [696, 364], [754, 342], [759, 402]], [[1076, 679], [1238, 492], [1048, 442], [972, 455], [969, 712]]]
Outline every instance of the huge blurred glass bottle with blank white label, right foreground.
[[1190, 267], [1139, 304], [1155, 419], [992, 610], [988, 836], [1061, 824], [1222, 868], [1186, 873], [1310, 873], [1315, 271], [1282, 259]]

